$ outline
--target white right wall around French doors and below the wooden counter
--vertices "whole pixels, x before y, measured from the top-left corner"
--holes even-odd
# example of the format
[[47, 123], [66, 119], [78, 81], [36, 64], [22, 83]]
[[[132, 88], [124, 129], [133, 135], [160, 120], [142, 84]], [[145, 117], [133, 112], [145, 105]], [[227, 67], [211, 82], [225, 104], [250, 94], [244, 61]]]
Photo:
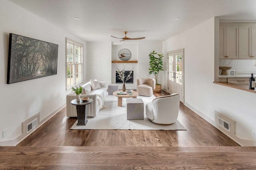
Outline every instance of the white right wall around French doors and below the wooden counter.
[[[163, 42], [163, 53], [184, 48], [185, 105], [215, 125], [214, 110], [236, 121], [240, 145], [254, 145], [256, 94], [214, 84], [214, 18]], [[166, 81], [167, 82], [167, 81]], [[191, 98], [191, 100], [190, 100]]]

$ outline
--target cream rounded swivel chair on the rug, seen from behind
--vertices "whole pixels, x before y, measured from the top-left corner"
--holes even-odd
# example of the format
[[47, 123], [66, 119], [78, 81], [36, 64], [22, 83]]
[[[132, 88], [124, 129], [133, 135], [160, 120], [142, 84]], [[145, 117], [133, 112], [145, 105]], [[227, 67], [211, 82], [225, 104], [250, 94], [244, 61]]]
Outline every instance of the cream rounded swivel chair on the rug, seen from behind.
[[171, 125], [178, 118], [179, 108], [180, 94], [160, 96], [146, 104], [146, 116], [154, 123]]

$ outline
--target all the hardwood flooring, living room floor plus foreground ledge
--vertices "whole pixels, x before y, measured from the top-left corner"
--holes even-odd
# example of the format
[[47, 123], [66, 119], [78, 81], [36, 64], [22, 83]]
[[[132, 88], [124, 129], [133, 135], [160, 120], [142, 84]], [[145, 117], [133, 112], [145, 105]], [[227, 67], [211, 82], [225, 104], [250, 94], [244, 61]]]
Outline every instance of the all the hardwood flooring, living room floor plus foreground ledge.
[[18, 146], [0, 147], [0, 169], [256, 169], [256, 147], [239, 146], [183, 104], [178, 120], [186, 131], [70, 130], [76, 118], [64, 108]]

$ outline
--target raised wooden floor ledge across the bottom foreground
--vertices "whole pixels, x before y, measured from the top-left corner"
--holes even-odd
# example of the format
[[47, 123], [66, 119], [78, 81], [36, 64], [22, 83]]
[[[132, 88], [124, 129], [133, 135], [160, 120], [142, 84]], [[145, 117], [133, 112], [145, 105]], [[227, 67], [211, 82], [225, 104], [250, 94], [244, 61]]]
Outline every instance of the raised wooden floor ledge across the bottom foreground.
[[0, 169], [256, 169], [256, 147], [0, 147]]

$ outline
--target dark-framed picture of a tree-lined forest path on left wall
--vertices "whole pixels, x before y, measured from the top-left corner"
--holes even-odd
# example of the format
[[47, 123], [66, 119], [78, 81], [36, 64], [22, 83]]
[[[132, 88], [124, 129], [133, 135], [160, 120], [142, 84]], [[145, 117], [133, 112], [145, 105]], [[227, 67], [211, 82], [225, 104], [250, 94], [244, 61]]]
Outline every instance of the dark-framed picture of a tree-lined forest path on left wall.
[[57, 74], [58, 45], [10, 33], [7, 84]]

